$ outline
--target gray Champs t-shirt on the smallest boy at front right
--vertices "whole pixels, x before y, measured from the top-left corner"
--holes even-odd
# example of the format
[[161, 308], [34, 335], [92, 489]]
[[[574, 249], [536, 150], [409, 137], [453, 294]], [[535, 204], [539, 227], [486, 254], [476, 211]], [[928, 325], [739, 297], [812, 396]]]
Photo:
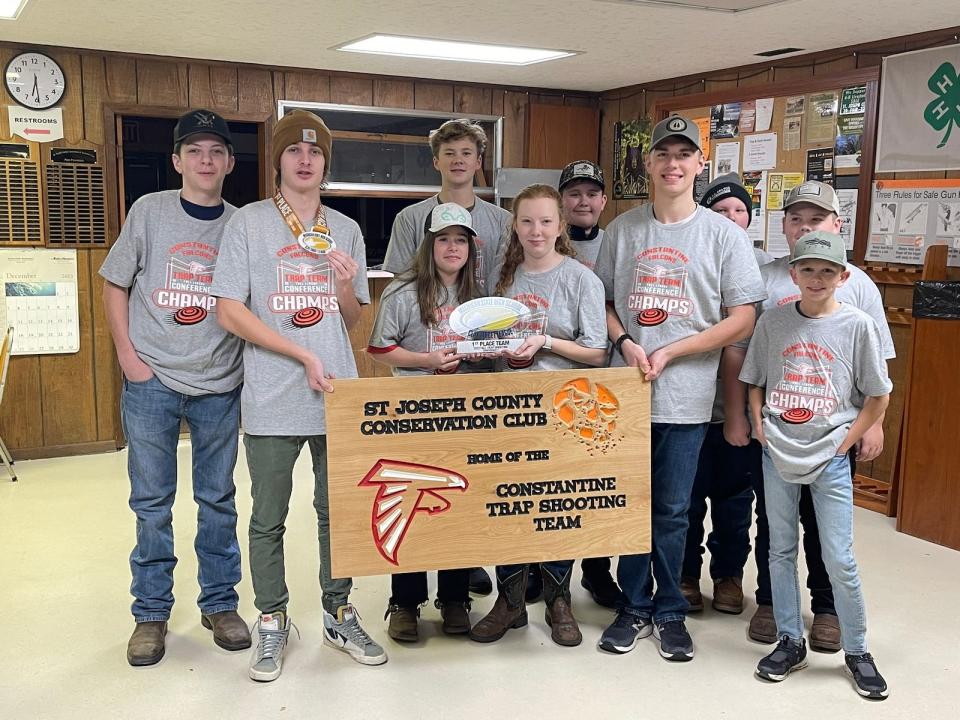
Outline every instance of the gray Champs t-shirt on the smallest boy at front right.
[[796, 483], [816, 480], [865, 399], [893, 387], [876, 323], [848, 303], [821, 318], [805, 317], [796, 302], [764, 313], [740, 379], [765, 388], [767, 449], [781, 477]]

